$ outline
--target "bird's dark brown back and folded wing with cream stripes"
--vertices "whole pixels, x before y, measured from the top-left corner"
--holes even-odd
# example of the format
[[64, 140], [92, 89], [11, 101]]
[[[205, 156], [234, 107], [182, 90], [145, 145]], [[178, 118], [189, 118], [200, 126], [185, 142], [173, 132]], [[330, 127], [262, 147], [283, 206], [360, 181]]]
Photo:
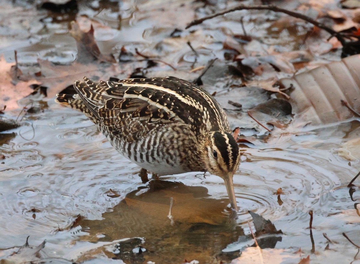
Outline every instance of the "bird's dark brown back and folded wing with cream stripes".
[[99, 83], [84, 78], [74, 87], [99, 126], [118, 136], [131, 135], [130, 140], [174, 122], [197, 132], [229, 130], [224, 110], [208, 92], [175, 77]]

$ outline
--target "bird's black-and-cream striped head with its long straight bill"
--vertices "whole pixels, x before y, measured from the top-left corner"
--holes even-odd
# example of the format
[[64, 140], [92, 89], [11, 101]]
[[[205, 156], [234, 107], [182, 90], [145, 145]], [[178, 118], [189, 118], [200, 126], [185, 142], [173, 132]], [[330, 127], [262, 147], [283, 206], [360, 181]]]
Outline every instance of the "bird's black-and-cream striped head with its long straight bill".
[[203, 163], [208, 172], [225, 181], [233, 210], [238, 210], [233, 186], [233, 175], [240, 163], [239, 146], [233, 135], [213, 131], [204, 140]]

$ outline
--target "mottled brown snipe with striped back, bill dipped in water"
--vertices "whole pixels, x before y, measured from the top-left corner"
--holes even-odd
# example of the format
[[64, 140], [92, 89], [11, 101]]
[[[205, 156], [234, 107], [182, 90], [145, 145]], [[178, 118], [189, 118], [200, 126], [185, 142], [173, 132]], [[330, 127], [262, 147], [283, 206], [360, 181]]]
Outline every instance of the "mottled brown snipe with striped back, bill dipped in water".
[[60, 104], [82, 111], [112, 146], [140, 167], [170, 175], [209, 171], [225, 180], [237, 210], [233, 173], [239, 149], [224, 110], [197, 85], [175, 77], [76, 81]]

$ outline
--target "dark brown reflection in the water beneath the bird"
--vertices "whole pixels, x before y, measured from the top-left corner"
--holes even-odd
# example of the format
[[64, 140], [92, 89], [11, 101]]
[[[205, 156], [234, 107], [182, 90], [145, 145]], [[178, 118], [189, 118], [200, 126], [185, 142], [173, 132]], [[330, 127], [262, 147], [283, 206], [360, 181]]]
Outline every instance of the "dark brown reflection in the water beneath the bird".
[[[129, 250], [114, 250], [112, 256], [126, 263], [163, 263], [165, 259], [169, 263], [185, 259], [205, 263], [223, 255], [221, 250], [243, 235], [242, 228], [231, 221], [226, 211], [228, 203], [228, 199], [210, 198], [202, 186], [150, 181], [148, 187], [127, 194], [112, 212], [105, 212], [103, 220], [82, 220], [79, 225], [89, 233], [90, 237], [82, 237], [86, 241], [132, 238], [131, 246], [126, 245], [131, 247]], [[138, 237], [144, 238], [144, 243]], [[133, 253], [140, 246], [142, 253]]]

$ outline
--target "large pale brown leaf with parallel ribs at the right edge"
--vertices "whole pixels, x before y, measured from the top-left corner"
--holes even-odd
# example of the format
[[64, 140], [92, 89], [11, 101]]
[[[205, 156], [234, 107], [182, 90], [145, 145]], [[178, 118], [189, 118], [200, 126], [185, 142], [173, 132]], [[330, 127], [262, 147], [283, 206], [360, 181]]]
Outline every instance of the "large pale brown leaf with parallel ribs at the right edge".
[[279, 82], [284, 88], [292, 87], [289, 102], [294, 113], [302, 113], [307, 122], [313, 125], [338, 122], [353, 116], [341, 100], [355, 111], [360, 110], [359, 63], [358, 54]]

